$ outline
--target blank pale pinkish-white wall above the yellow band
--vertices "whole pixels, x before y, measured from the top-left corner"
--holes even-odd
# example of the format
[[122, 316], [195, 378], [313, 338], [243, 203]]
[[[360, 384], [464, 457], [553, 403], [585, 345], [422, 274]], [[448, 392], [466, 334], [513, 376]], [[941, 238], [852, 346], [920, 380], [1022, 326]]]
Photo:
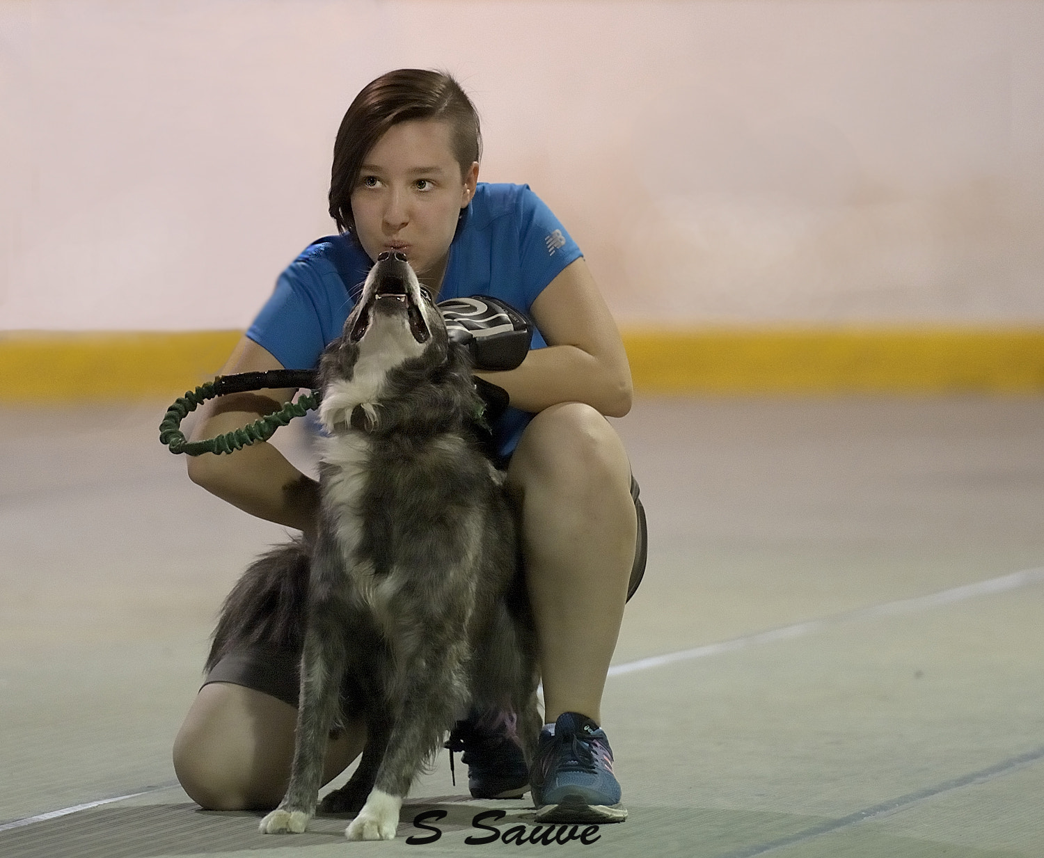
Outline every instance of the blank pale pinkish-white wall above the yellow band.
[[1042, 45], [1035, 0], [0, 0], [0, 329], [245, 326], [399, 66], [624, 324], [1040, 324]]

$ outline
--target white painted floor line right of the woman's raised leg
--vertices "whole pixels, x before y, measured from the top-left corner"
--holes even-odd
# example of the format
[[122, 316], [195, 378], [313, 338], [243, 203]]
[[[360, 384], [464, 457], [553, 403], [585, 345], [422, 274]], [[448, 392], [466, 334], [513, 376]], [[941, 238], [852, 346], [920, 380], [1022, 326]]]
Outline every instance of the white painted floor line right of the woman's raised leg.
[[939, 607], [944, 604], [973, 599], [977, 596], [990, 596], [994, 593], [1018, 590], [1020, 587], [1041, 581], [1044, 581], [1044, 568], [1024, 569], [1021, 572], [1013, 572], [1010, 575], [1001, 575], [1000, 577], [989, 578], [984, 581], [954, 587], [950, 590], [943, 590], [927, 596], [900, 599], [899, 601], [876, 604], [872, 607], [860, 607], [855, 611], [846, 612], [845, 614], [835, 614], [833, 617], [824, 617], [821, 620], [808, 620], [807, 622], [796, 623], [793, 625], [784, 625], [782, 628], [774, 628], [769, 631], [759, 631], [757, 635], [744, 635], [742, 638], [733, 638], [731, 641], [721, 641], [720, 643], [697, 646], [693, 649], [682, 649], [678, 652], [666, 652], [663, 656], [652, 656], [648, 659], [639, 659], [636, 662], [613, 665], [609, 669], [609, 675], [619, 676], [623, 673], [633, 673], [636, 670], [663, 667], [674, 662], [704, 659], [708, 656], [717, 656], [721, 652], [735, 652], [737, 649], [745, 649], [749, 646], [757, 644], [800, 638], [804, 635], [810, 635], [813, 631], [820, 631], [831, 625], [856, 622], [858, 620], [870, 620], [877, 617], [894, 617], [897, 614], [910, 614], [916, 611], [925, 611], [929, 607]]

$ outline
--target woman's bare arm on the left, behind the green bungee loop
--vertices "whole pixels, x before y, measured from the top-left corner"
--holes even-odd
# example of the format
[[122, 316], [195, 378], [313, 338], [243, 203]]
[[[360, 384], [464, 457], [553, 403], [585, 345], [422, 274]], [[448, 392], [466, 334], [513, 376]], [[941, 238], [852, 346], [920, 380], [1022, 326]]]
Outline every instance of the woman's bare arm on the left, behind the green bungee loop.
[[[221, 375], [282, 370], [256, 342], [243, 337]], [[279, 410], [295, 390], [230, 394], [200, 406], [192, 440], [214, 437]], [[244, 513], [302, 530], [310, 538], [318, 507], [318, 483], [302, 474], [270, 444], [258, 443], [223, 455], [204, 453], [188, 460], [189, 478]]]

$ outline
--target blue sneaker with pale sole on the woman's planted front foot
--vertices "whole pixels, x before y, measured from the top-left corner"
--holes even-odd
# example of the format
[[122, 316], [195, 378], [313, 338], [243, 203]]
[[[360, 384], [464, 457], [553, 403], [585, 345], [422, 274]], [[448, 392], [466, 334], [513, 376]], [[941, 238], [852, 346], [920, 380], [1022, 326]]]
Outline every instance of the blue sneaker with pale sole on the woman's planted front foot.
[[538, 823], [622, 823], [620, 784], [606, 731], [576, 712], [564, 712], [554, 733], [544, 728], [532, 764]]

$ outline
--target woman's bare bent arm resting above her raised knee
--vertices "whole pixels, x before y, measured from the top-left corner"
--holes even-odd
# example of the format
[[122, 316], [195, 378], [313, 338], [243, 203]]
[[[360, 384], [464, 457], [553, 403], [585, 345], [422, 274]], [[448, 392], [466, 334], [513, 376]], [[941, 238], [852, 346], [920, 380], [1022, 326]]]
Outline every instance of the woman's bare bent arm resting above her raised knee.
[[546, 349], [529, 352], [503, 373], [476, 373], [503, 387], [512, 405], [543, 411], [560, 402], [584, 402], [602, 414], [631, 410], [631, 366], [620, 332], [587, 262], [567, 265], [532, 303]]

